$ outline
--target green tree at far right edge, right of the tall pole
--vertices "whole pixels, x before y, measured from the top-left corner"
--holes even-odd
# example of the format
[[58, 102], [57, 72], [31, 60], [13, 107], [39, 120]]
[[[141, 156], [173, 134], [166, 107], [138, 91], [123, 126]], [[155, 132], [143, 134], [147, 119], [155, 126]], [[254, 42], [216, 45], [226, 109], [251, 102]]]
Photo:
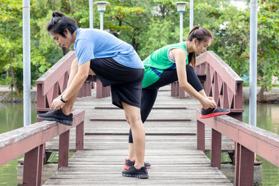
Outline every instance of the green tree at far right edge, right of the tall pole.
[[264, 90], [271, 90], [271, 79], [279, 77], [279, 2], [262, 0], [258, 11], [257, 75], [261, 86], [257, 97], [262, 100]]

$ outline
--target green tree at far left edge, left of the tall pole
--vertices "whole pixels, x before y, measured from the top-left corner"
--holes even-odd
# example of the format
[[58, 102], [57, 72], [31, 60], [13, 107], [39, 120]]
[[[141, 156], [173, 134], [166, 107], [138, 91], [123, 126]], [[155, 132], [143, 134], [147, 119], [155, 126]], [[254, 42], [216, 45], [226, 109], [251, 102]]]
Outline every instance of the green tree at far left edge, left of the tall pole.
[[17, 82], [17, 72], [22, 68], [22, 20], [19, 20], [17, 15], [22, 15], [22, 4], [9, 0], [0, 1], [0, 5], [1, 71], [10, 71], [12, 78], [8, 84], [20, 95], [22, 88], [20, 82]]

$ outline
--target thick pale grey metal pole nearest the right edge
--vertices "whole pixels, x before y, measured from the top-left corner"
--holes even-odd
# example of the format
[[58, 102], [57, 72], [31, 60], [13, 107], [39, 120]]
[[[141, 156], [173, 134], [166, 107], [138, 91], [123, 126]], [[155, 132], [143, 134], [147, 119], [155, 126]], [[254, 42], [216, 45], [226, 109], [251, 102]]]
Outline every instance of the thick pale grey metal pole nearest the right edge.
[[249, 123], [257, 126], [257, 0], [250, 0]]

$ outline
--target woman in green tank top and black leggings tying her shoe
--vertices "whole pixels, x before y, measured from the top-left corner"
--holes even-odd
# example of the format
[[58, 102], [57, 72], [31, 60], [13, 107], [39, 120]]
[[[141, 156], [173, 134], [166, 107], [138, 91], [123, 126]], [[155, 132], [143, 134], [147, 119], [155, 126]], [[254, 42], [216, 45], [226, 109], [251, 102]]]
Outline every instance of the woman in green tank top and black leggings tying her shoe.
[[[153, 107], [158, 89], [177, 80], [180, 88], [199, 100], [202, 105], [202, 118], [229, 113], [229, 109], [217, 107], [213, 98], [206, 96], [194, 70], [196, 54], [206, 52], [206, 48], [212, 42], [213, 34], [209, 29], [195, 26], [188, 34], [186, 42], [179, 42], [157, 49], [143, 61], [145, 68], [141, 100], [143, 123]], [[125, 161], [124, 169], [133, 166], [133, 160], [135, 160], [135, 152], [130, 130], [129, 155]], [[151, 166], [149, 163], [144, 163], [144, 165], [146, 168]]]

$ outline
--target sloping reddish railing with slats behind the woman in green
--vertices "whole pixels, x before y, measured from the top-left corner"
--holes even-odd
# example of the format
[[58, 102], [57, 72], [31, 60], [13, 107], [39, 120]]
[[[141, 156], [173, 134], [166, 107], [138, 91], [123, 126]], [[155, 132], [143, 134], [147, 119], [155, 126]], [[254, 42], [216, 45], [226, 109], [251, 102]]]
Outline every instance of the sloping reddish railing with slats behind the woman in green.
[[[195, 71], [206, 95], [213, 97], [219, 107], [230, 109], [230, 116], [242, 121], [241, 77], [212, 51], [197, 57]], [[179, 98], [185, 96], [178, 82], [172, 84], [172, 96]]]

